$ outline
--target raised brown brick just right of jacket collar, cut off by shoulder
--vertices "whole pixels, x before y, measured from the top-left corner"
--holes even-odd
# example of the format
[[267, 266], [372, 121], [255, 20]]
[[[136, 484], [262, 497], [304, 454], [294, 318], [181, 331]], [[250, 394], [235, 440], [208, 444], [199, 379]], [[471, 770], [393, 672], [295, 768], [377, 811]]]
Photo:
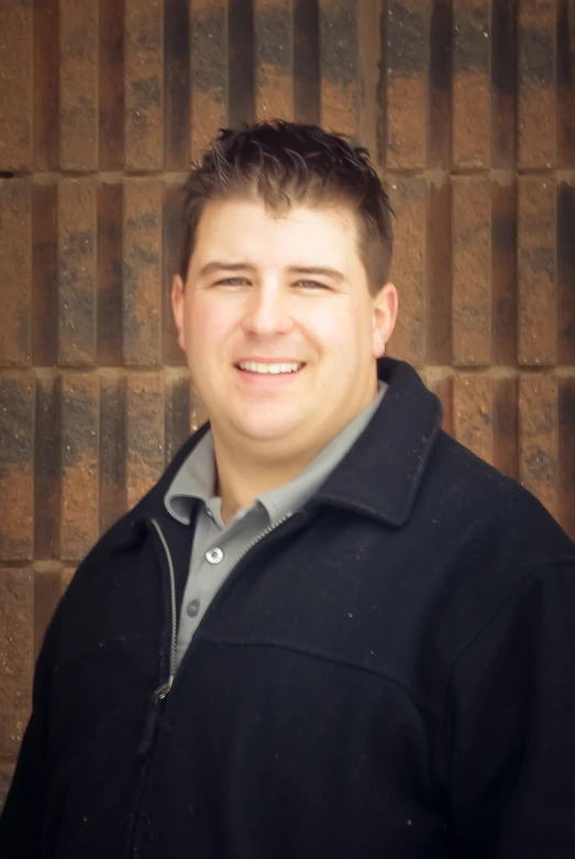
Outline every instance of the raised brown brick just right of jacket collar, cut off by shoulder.
[[488, 376], [454, 377], [454, 436], [489, 463], [494, 459], [493, 410], [493, 381]]

